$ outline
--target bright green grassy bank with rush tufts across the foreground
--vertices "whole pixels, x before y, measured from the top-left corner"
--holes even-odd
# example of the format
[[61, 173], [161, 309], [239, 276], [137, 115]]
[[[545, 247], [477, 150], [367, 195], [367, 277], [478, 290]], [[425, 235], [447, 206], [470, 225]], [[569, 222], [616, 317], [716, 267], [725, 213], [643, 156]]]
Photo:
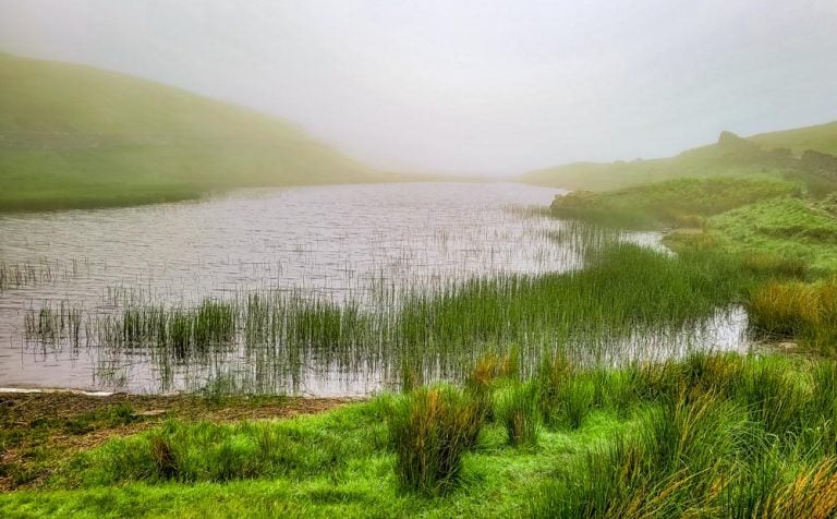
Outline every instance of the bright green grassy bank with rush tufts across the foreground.
[[[0, 496], [0, 510], [827, 517], [837, 507], [836, 373], [826, 362], [738, 355], [618, 371], [553, 358], [529, 381], [477, 367], [462, 388], [420, 388], [316, 417], [168, 421], [68, 452], [37, 490]], [[515, 395], [536, 406], [510, 406]], [[522, 418], [535, 426], [517, 442], [509, 424]], [[462, 448], [445, 449], [456, 438]], [[409, 467], [430, 484], [413, 486]]]

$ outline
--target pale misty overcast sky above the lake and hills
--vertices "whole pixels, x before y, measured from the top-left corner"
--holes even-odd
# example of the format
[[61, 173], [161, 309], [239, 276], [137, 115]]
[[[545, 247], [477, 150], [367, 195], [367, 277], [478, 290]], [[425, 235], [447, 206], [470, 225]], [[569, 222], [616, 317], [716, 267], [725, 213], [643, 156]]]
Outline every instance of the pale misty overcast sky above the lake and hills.
[[399, 170], [510, 174], [837, 119], [837, 0], [0, 0], [0, 50], [254, 107]]

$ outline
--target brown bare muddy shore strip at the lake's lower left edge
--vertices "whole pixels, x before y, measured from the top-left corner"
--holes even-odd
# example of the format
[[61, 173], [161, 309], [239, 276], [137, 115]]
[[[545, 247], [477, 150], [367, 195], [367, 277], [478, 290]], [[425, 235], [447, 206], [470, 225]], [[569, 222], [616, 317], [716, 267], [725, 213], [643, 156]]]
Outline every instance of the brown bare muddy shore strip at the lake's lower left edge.
[[68, 452], [166, 420], [230, 422], [322, 412], [350, 400], [290, 397], [0, 394], [0, 492], [43, 484]]

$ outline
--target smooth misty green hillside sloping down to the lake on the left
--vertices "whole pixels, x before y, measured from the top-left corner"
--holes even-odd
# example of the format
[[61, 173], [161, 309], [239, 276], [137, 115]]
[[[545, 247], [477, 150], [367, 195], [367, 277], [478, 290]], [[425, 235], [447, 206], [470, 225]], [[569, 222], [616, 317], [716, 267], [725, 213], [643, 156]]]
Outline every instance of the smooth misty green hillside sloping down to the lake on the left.
[[276, 118], [123, 74], [0, 53], [0, 210], [383, 178]]

